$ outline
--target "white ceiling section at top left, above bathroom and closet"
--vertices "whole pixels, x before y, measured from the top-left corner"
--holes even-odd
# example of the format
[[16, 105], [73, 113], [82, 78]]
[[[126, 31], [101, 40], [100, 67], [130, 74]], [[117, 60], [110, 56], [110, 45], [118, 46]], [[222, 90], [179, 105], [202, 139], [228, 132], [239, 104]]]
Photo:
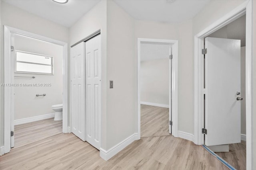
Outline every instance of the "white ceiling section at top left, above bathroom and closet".
[[71, 27], [84, 14], [92, 9], [100, 0], [69, 0], [66, 4], [58, 4], [52, 0], [2, 0], [51, 20], [65, 27]]

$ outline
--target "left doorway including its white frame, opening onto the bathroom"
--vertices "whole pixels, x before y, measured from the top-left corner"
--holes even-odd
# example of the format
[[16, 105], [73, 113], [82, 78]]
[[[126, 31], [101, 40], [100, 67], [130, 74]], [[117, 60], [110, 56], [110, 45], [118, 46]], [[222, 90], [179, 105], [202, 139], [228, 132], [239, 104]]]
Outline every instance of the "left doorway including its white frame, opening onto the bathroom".
[[4, 153], [67, 133], [67, 43], [4, 26], [4, 62]]

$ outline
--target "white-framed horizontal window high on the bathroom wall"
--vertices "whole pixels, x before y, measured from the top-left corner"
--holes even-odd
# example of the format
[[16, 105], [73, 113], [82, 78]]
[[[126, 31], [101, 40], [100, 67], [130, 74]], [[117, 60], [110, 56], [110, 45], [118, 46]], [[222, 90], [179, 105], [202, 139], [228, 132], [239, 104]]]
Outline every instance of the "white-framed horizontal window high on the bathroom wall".
[[16, 50], [15, 72], [53, 75], [53, 57]]

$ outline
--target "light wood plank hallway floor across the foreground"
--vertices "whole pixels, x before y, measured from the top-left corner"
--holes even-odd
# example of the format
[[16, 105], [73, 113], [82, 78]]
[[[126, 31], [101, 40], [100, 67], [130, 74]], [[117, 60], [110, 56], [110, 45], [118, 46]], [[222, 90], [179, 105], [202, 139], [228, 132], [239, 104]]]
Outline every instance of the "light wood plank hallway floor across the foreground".
[[[152, 109], [162, 110], [163, 108]], [[148, 122], [144, 118], [142, 118], [142, 122]], [[150, 116], [147, 118], [154, 119]], [[157, 120], [163, 119], [158, 117]], [[164, 121], [166, 120], [164, 119]], [[154, 121], [152, 123], [154, 124]], [[150, 133], [146, 133], [146, 135], [156, 135], [156, 137], [142, 137], [108, 161], [100, 158], [97, 149], [87, 142], [81, 141], [72, 133], [61, 133], [14, 148], [10, 153], [0, 156], [0, 169], [227, 170], [226, 166], [201, 146], [169, 135], [168, 128], [166, 129], [165, 126], [148, 125]], [[157, 127], [165, 129], [165, 131], [156, 129]]]

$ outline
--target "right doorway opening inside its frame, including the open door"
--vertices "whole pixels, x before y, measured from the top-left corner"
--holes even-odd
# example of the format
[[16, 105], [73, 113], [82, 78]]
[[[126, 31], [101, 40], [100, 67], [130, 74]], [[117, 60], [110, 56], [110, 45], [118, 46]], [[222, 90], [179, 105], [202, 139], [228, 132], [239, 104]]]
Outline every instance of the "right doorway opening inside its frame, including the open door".
[[204, 144], [234, 168], [246, 169], [246, 15], [204, 44]]

